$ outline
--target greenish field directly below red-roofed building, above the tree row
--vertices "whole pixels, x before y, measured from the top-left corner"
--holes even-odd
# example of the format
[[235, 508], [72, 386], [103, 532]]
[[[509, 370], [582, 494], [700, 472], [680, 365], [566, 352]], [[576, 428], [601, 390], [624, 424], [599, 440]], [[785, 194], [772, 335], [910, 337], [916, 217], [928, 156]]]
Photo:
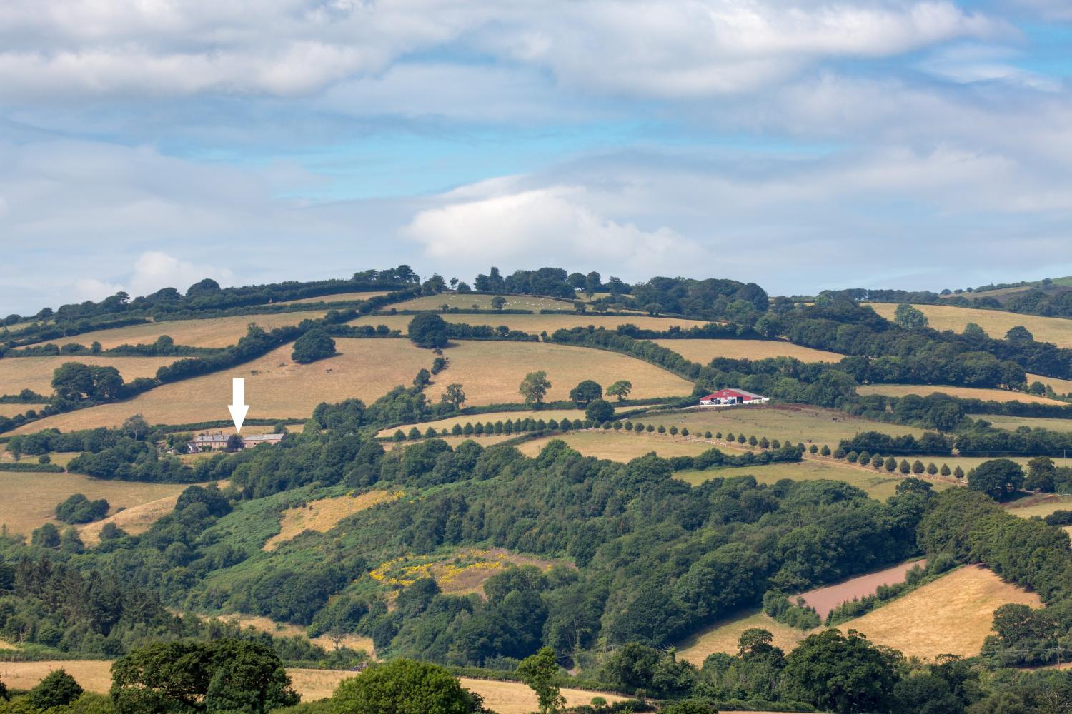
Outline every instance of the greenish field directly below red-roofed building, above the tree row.
[[[646, 417], [645, 417], [646, 416]], [[755, 436], [757, 439], [787, 439], [793, 443], [803, 441], [816, 444], [837, 445], [842, 439], [850, 439], [861, 431], [881, 431], [891, 436], [911, 434], [920, 436], [922, 429], [898, 424], [872, 422], [852, 416], [834, 409], [796, 405], [763, 405], [755, 407], [684, 409], [681, 411], [652, 413], [638, 417], [643, 423], [688, 427], [694, 435], [711, 431], [723, 435]], [[636, 420], [634, 420], [636, 421]]]

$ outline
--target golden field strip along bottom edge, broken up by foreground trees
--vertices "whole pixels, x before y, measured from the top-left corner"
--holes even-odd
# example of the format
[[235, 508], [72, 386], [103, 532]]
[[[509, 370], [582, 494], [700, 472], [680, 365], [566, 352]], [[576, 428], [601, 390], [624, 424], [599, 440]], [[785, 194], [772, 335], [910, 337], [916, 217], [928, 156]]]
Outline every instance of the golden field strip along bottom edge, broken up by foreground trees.
[[[12, 689], [31, 689], [38, 682], [58, 669], [63, 669], [89, 692], [107, 694], [111, 686], [111, 662], [106, 659], [71, 659], [48, 662], [5, 662], [0, 664], [3, 682]], [[302, 701], [315, 701], [331, 696], [344, 679], [355, 677], [352, 671], [330, 669], [288, 669], [287, 674]], [[537, 708], [536, 695], [520, 682], [474, 680], [461, 678], [462, 686], [485, 698], [485, 704], [497, 714], [528, 714]], [[624, 698], [601, 692], [563, 689], [566, 704], [577, 707], [602, 697], [608, 702]]]

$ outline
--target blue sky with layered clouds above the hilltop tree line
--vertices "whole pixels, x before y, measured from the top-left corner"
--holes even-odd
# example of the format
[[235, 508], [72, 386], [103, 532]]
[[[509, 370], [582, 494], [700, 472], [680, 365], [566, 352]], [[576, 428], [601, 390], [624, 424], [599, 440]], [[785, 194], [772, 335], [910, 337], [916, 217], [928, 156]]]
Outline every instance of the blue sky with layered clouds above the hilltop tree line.
[[1068, 0], [4, 0], [0, 314], [406, 262], [1072, 274]]

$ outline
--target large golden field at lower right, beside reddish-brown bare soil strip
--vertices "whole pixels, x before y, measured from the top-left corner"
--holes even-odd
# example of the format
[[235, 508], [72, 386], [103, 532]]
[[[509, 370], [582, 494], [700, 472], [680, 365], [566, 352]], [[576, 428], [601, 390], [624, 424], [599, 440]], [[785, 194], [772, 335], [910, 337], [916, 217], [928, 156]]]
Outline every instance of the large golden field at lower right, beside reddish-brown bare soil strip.
[[1039, 607], [1039, 596], [1004, 582], [981, 565], [968, 565], [873, 612], [838, 625], [906, 655], [979, 654], [994, 610], [1007, 603]]

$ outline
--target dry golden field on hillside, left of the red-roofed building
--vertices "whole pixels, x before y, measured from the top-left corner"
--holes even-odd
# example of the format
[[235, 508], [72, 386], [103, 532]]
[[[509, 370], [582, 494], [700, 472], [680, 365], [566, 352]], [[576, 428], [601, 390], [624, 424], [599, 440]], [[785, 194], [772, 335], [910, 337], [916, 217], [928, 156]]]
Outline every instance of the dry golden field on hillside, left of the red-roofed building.
[[[427, 350], [422, 353], [429, 355], [430, 363], [431, 353]], [[547, 401], [568, 399], [569, 390], [585, 379], [594, 379], [604, 386], [627, 379], [632, 382], [634, 399], [680, 396], [693, 391], [691, 382], [646, 362], [585, 347], [474, 340], [459, 341], [444, 350], [444, 354], [450, 366], [435, 376], [435, 383], [426, 392], [433, 401], [440, 400], [447, 384], [457, 382], [465, 389], [466, 405], [517, 404], [522, 401], [518, 393], [521, 380], [538, 369], [546, 371], [551, 381]], [[407, 383], [416, 371], [410, 373]]]

